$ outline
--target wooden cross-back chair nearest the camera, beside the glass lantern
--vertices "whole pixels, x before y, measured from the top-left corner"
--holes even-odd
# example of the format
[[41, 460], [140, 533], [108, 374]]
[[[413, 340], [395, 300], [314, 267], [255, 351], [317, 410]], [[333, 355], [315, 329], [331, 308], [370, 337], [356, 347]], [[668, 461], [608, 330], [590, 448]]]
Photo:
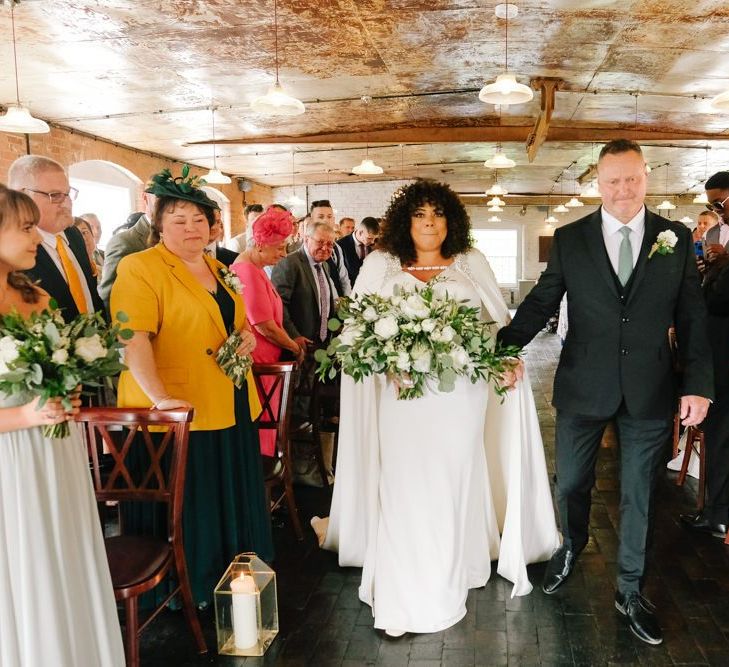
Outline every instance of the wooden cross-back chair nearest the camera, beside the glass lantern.
[[[178, 593], [198, 651], [207, 652], [182, 544], [182, 502], [192, 415], [192, 409], [83, 408], [77, 417], [84, 425], [98, 502], [167, 505], [166, 537], [122, 534], [105, 539], [114, 595], [124, 602], [126, 611], [125, 648], [130, 667], [139, 665], [139, 635]], [[118, 430], [119, 426], [123, 430]], [[150, 426], [164, 426], [167, 430], [152, 438]], [[130, 450], [141, 447], [149, 455], [149, 464], [142, 474], [132, 474], [127, 457]], [[113, 465], [102, 471], [103, 448], [111, 455]], [[171, 573], [177, 578], [176, 587], [140, 625], [138, 597]]]

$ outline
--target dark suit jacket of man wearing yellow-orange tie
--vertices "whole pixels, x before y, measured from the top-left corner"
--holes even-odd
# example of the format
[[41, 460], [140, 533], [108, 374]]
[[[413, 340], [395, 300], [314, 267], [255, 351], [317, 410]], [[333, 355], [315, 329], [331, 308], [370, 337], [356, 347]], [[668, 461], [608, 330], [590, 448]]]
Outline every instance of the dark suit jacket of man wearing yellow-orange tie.
[[[75, 227], [69, 227], [63, 232], [68, 239], [68, 245], [71, 252], [76, 256], [78, 263], [81, 265], [83, 276], [81, 280], [86, 280], [91, 292], [91, 300], [94, 303], [94, 310], [105, 312], [104, 303], [96, 291], [96, 278], [91, 273], [91, 262], [86, 253], [84, 245], [84, 237]], [[38, 246], [38, 254], [36, 256], [35, 266], [26, 271], [26, 273], [58, 302], [58, 307], [63, 313], [66, 321], [78, 316], [78, 308], [73, 301], [71, 291], [68, 289], [66, 278], [61, 274], [56, 263], [51, 259], [43, 244]]]

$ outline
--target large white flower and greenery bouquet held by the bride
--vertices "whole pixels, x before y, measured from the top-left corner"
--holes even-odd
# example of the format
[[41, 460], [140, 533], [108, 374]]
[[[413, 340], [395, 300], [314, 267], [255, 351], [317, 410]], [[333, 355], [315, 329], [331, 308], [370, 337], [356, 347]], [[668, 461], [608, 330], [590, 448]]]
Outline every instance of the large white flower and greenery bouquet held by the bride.
[[391, 297], [341, 299], [337, 315], [329, 329], [339, 334], [315, 353], [319, 377], [333, 378], [337, 366], [356, 382], [385, 373], [399, 399], [419, 398], [429, 381], [453, 391], [459, 376], [494, 382], [503, 395], [497, 381], [518, 355], [517, 348], [497, 348], [480, 309], [449, 297], [437, 280], [422, 289], [396, 288]]

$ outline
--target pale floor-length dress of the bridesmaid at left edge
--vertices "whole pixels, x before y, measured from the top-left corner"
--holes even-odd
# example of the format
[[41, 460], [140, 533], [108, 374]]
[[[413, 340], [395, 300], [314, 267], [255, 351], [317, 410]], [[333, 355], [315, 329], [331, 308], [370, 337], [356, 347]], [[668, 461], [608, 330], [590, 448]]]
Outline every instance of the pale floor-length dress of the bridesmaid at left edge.
[[[0, 394], [0, 407], [20, 404]], [[70, 427], [56, 440], [0, 433], [2, 667], [124, 665], [86, 447]]]

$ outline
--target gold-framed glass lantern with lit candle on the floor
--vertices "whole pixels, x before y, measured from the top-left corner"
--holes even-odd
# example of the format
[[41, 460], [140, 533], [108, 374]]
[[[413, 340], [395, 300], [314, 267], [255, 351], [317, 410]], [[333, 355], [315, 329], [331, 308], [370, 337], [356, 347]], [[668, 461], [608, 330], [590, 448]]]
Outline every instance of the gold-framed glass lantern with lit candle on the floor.
[[276, 573], [256, 554], [239, 554], [214, 597], [218, 653], [263, 655], [278, 634]]

